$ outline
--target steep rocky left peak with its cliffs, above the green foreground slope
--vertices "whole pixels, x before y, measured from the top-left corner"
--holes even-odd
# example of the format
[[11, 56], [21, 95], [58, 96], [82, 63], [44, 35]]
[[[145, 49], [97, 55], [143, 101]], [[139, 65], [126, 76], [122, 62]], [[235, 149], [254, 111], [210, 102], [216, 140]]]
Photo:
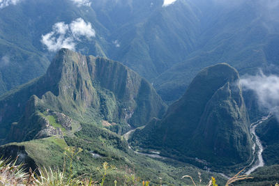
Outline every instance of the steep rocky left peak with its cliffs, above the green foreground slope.
[[160, 118], [165, 108], [153, 87], [121, 63], [61, 49], [43, 77], [1, 98], [0, 139], [61, 134], [67, 127], [54, 112], [74, 123], [114, 123], [121, 133]]

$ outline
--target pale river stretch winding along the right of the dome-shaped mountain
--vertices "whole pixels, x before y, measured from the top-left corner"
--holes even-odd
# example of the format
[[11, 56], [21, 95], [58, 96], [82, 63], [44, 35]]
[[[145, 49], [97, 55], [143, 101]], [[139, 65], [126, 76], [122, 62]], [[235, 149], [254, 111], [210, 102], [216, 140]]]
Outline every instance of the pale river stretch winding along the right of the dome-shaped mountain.
[[[265, 116], [262, 117], [262, 119], [256, 121], [255, 123], [252, 123], [250, 125], [250, 134], [252, 136], [252, 141], [253, 141], [253, 146], [252, 146], [252, 150], [253, 150], [253, 160], [251, 162], [250, 165], [252, 165], [252, 167], [250, 169], [248, 169], [248, 171], [246, 171], [246, 174], [249, 175], [250, 173], [252, 173], [252, 171], [255, 171], [255, 169], [264, 166], [264, 159], [262, 158], [262, 152], [264, 151], [264, 147], [262, 146], [262, 141], [259, 140], [259, 137], [256, 134], [256, 128], [259, 124], [263, 123], [264, 121], [266, 121], [267, 119], [269, 119], [271, 117], [271, 114], [269, 114], [269, 116]], [[257, 161], [255, 161], [255, 156], [256, 156], [256, 146], [258, 148], [257, 150]]]

